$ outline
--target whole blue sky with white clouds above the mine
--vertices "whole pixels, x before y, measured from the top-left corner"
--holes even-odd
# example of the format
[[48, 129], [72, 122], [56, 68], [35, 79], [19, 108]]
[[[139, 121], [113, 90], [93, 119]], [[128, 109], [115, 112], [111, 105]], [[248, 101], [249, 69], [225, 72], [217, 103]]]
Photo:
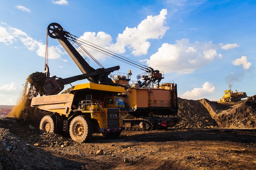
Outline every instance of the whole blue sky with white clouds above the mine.
[[[218, 101], [223, 91], [256, 94], [254, 0], [0, 0], [0, 105], [15, 105], [27, 77], [43, 72], [47, 26], [56, 22], [77, 37], [164, 72], [178, 97]], [[117, 73], [144, 71], [92, 55]], [[97, 67], [91, 60], [90, 65]], [[51, 76], [81, 71], [49, 38]], [[86, 83], [87, 80], [75, 82]], [[65, 88], [70, 87], [67, 85]]]

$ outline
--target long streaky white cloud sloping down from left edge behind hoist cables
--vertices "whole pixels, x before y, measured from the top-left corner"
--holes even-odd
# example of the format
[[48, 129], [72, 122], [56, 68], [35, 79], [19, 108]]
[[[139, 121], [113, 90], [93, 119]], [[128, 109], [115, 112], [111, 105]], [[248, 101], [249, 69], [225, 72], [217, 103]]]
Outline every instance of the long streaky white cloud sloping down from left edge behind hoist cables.
[[[6, 24], [0, 26], [0, 42], [6, 45], [13, 44], [14, 42], [22, 42], [28, 50], [36, 51], [38, 56], [45, 57], [45, 44], [34, 40], [27, 33]], [[58, 59], [64, 53], [61, 51], [60, 46], [50, 46], [48, 51], [49, 59]]]

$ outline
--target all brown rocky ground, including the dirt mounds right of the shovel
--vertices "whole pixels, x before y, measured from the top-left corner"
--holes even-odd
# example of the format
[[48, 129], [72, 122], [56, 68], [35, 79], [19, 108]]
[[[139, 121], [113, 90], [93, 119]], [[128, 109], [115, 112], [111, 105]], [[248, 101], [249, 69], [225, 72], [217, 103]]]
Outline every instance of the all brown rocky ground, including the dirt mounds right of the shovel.
[[29, 115], [1, 118], [0, 170], [255, 169], [256, 95], [236, 103], [178, 102], [181, 120], [174, 128], [124, 131], [118, 139], [94, 135], [81, 144], [40, 135]]

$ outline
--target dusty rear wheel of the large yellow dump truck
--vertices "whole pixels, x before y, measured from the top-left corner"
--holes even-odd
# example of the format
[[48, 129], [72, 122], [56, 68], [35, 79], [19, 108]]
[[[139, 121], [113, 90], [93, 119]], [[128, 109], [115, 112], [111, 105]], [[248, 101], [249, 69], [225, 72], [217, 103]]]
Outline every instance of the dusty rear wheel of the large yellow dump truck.
[[44, 116], [39, 125], [40, 134], [43, 134], [44, 132], [55, 132], [55, 117], [46, 115]]

